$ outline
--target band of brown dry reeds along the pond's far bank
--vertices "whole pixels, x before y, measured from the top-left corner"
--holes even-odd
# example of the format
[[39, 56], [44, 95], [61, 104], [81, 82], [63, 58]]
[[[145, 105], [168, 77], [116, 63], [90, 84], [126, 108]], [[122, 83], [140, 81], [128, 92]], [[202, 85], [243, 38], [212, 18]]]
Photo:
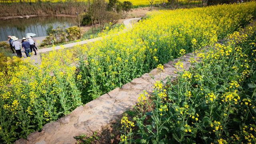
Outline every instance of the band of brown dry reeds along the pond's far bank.
[[[76, 15], [76, 2], [13, 2], [0, 4], [0, 17], [45, 14]], [[78, 12], [83, 12], [85, 2], [78, 2]]]

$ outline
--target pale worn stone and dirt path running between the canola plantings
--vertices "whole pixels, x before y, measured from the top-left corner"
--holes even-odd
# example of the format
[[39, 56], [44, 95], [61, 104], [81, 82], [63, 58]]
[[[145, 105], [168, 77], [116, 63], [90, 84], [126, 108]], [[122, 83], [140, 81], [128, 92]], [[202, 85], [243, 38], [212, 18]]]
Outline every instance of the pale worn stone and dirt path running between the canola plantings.
[[[186, 70], [191, 66], [188, 62], [191, 54], [186, 54], [182, 58]], [[174, 64], [178, 60], [180, 59], [164, 64], [164, 72], [161, 75], [156, 69], [143, 74], [140, 78], [135, 78], [121, 88], [116, 88], [96, 100], [76, 108], [57, 122], [44, 125], [41, 132], [33, 132], [27, 136], [26, 140], [21, 138], [15, 144], [75, 144], [74, 136], [92, 135], [95, 131], [101, 131], [102, 127], [109, 124], [116, 116], [136, 105], [138, 96], [143, 93], [143, 90], [149, 94], [152, 93], [153, 84], [155, 81], [160, 81], [160, 76], [164, 82], [168, 78], [171, 81], [175, 80], [177, 74], [174, 71], [177, 69]], [[150, 75], [154, 76], [154, 80]]]

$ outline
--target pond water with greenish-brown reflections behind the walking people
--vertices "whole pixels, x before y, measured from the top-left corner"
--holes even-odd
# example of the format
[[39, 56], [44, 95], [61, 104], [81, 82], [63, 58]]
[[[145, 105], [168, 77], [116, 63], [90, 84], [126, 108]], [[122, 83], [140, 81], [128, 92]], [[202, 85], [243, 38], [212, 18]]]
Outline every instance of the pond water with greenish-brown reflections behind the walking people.
[[21, 39], [26, 33], [35, 33], [35, 37], [46, 36], [45, 30], [52, 24], [54, 28], [65, 25], [65, 28], [77, 26], [76, 18], [62, 16], [38, 16], [31, 18], [13, 18], [0, 20], [0, 41], [7, 40], [7, 36]]

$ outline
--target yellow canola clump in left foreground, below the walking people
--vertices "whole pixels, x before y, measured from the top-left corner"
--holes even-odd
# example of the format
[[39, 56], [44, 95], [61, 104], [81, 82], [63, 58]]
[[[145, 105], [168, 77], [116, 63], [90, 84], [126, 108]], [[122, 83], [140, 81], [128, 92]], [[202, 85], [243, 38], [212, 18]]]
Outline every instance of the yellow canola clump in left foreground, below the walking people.
[[[10, 60], [10, 58], [9, 58]], [[52, 51], [42, 64], [14, 57], [0, 72], [0, 138], [14, 142], [82, 104], [73, 52]]]

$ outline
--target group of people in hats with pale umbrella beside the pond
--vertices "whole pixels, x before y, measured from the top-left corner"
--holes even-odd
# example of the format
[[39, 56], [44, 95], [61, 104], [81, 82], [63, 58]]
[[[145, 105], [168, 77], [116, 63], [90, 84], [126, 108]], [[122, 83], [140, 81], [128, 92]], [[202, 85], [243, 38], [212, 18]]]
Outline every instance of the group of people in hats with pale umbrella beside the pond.
[[38, 51], [38, 48], [36, 47], [36, 40], [31, 36], [26, 36], [26, 38], [28, 38], [28, 41], [26, 40], [26, 38], [22, 38], [22, 44], [17, 41], [18, 38], [16, 38], [16, 36], [7, 37], [10, 43], [10, 49], [12, 50], [12, 53], [14, 53], [15, 50], [19, 58], [22, 57], [21, 47], [23, 48], [27, 57], [30, 57], [32, 55], [32, 50], [34, 50], [36, 55], [36, 51]]

